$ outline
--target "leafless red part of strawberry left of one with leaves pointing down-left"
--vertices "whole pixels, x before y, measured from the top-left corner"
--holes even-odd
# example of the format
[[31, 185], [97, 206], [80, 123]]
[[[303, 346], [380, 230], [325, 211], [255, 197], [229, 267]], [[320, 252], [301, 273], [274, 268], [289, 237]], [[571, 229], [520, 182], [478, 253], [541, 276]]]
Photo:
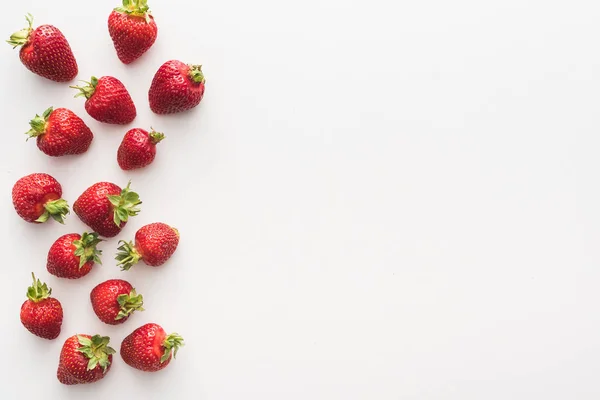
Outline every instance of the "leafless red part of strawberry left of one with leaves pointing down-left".
[[86, 276], [94, 266], [93, 261], [79, 268], [79, 256], [75, 255], [73, 242], [81, 239], [78, 233], [69, 233], [56, 239], [48, 251], [46, 269], [59, 278], [79, 279]]

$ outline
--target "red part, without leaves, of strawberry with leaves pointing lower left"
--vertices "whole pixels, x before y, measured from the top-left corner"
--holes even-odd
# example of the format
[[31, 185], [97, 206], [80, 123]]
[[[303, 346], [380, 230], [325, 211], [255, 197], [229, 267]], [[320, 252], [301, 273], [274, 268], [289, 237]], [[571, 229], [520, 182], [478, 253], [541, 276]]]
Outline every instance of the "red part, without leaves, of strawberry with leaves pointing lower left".
[[153, 267], [167, 262], [178, 244], [179, 233], [162, 222], [145, 225], [135, 234], [135, 249], [142, 260]]

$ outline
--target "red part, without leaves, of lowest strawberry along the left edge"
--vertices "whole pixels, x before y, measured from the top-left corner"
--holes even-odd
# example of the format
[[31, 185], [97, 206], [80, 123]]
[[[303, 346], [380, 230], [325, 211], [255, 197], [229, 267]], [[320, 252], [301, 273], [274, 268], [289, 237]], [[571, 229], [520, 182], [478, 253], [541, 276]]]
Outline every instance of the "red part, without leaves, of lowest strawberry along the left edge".
[[29, 332], [44, 339], [60, 335], [63, 310], [60, 301], [53, 297], [37, 303], [27, 299], [21, 306], [21, 323]]

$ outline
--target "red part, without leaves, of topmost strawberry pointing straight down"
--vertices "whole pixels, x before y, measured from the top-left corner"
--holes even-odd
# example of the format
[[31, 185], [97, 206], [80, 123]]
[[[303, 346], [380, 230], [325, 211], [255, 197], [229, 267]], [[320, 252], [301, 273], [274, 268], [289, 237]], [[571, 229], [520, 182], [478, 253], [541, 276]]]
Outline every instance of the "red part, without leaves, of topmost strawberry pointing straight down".
[[146, 18], [113, 11], [108, 17], [108, 33], [113, 40], [117, 56], [125, 64], [140, 58], [156, 41], [158, 27], [154, 17]]

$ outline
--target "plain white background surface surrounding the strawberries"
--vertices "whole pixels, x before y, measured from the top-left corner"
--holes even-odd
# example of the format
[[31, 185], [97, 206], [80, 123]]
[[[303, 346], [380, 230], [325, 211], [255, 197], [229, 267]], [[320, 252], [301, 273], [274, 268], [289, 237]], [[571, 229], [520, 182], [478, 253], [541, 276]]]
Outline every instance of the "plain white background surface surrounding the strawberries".
[[[600, 8], [542, 0], [152, 0], [154, 47], [125, 66], [106, 20], [117, 1], [8, 2], [2, 34], [52, 23], [79, 79], [114, 75], [138, 117], [102, 125], [66, 84], [0, 56], [2, 399], [405, 400], [600, 396]], [[391, 2], [390, 2], [391, 3]], [[153, 115], [166, 60], [201, 63], [194, 111]], [[25, 142], [28, 121], [68, 107], [95, 134], [80, 157]], [[167, 139], [126, 173], [128, 128]], [[26, 224], [10, 191], [48, 172], [72, 202], [132, 179], [142, 213], [78, 281], [45, 270], [52, 242], [85, 229]], [[161, 268], [120, 272], [117, 239], [179, 228]], [[19, 322], [30, 272], [65, 310], [52, 342]], [[89, 292], [125, 278], [144, 313], [111, 327]], [[119, 356], [104, 380], [56, 380], [63, 341], [120, 341], [155, 321], [186, 339], [159, 373]]]

